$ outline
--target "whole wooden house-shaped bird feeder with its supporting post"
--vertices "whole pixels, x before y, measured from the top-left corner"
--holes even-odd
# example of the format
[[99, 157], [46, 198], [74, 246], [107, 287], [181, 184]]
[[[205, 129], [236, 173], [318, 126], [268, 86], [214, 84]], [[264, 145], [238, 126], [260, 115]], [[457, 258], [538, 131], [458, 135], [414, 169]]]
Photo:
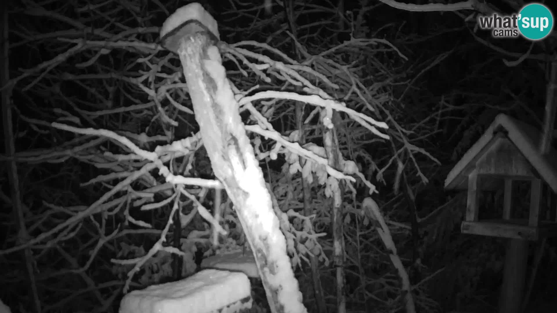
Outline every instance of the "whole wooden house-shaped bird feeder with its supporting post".
[[[557, 208], [545, 200], [557, 194], [557, 151], [551, 149], [541, 154], [540, 138], [540, 132], [532, 126], [499, 114], [445, 180], [446, 189], [467, 190], [462, 233], [510, 239], [499, 305], [501, 313], [521, 310], [529, 241], [557, 236], [554, 212]], [[528, 218], [514, 216], [517, 208], [513, 205], [512, 186], [518, 181], [530, 182]], [[548, 187], [545, 194], [544, 184]], [[482, 219], [482, 214], [490, 212], [480, 211], [485, 208], [480, 206], [481, 194], [497, 189], [504, 190], [501, 217]]]

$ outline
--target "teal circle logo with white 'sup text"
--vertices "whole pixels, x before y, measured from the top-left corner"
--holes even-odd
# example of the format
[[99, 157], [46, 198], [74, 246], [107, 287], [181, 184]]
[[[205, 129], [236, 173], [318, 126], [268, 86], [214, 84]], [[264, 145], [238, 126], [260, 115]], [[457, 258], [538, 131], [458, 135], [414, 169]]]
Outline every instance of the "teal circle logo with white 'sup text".
[[551, 11], [540, 3], [530, 3], [519, 12], [519, 31], [530, 40], [540, 40], [553, 29]]

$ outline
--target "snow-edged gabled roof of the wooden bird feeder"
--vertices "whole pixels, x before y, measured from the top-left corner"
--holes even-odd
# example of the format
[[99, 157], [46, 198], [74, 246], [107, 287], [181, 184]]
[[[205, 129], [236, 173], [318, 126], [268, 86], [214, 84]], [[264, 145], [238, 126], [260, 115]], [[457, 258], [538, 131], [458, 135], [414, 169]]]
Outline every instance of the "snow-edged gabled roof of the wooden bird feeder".
[[538, 173], [554, 193], [557, 193], [557, 151], [551, 147], [549, 153], [540, 153], [541, 132], [531, 125], [522, 123], [506, 114], [499, 114], [481, 138], [462, 156], [445, 179], [445, 189], [467, 189], [468, 174], [476, 167], [476, 162], [495, 143], [496, 136], [506, 134], [517, 150]]

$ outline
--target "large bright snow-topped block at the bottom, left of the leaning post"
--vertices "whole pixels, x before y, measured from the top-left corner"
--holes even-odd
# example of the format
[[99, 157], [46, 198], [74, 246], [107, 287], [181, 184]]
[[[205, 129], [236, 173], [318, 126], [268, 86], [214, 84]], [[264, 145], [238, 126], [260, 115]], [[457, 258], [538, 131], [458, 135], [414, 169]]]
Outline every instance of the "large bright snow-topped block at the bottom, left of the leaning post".
[[120, 313], [234, 313], [251, 306], [245, 274], [208, 269], [181, 281], [132, 291], [120, 302]]

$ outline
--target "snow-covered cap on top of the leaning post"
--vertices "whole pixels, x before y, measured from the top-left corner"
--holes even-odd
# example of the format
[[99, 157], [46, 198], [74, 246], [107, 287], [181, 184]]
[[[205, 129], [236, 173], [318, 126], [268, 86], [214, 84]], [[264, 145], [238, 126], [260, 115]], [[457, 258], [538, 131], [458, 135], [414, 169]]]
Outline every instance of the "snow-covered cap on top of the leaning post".
[[218, 41], [217, 21], [197, 2], [189, 3], [170, 14], [160, 28], [160, 45], [172, 52], [178, 52], [182, 38], [197, 32], [207, 32]]

